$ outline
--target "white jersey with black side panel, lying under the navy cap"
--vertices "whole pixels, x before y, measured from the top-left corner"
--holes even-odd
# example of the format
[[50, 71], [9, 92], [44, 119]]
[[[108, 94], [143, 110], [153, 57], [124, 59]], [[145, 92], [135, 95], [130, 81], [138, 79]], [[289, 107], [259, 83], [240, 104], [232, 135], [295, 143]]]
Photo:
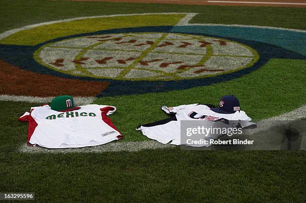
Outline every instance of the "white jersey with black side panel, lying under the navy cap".
[[[166, 107], [162, 106], [163, 110], [167, 114], [176, 113], [174, 116], [167, 119], [157, 121], [154, 123], [149, 123], [145, 125], [140, 125], [136, 130], [140, 130], [143, 135], [146, 137], [156, 140], [160, 143], [166, 144], [169, 143], [172, 145], [181, 145], [180, 143], [180, 121], [182, 120], [207, 120], [207, 121], [218, 121], [220, 119], [226, 119], [229, 121], [246, 121], [244, 126], [253, 125], [254, 123], [248, 122], [251, 119], [245, 114], [244, 111], [236, 111], [232, 114], [220, 114], [214, 111], [211, 111], [210, 108], [202, 104], [189, 104], [189, 105], [180, 105], [176, 107]], [[221, 135], [221, 134], [220, 134]], [[220, 135], [217, 135], [220, 136]], [[213, 135], [216, 136], [216, 135]], [[215, 139], [217, 137], [205, 137], [205, 139]], [[208, 147], [210, 145], [202, 145]], [[199, 145], [197, 147], [200, 147]]]

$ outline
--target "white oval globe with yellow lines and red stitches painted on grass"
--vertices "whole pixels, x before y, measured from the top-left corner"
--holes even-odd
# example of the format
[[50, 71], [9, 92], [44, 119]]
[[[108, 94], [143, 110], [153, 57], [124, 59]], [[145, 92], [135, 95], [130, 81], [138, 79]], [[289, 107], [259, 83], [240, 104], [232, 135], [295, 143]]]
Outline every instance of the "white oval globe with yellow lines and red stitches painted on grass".
[[45, 67], [118, 80], [178, 80], [252, 66], [257, 52], [220, 38], [179, 33], [119, 33], [52, 42], [34, 53]]

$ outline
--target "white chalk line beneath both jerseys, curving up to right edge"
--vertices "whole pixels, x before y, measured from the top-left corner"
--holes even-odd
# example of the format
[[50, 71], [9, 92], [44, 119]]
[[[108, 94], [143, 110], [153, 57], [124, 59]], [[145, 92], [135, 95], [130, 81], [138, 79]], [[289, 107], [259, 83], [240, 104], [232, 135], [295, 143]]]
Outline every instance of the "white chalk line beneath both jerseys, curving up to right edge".
[[[306, 117], [306, 105], [297, 108], [291, 112], [281, 114], [279, 116], [271, 117], [269, 119], [261, 120], [257, 122], [257, 128], [249, 131], [247, 134], [254, 134], [260, 131], [266, 130], [275, 124], [275, 120], [297, 120]], [[99, 145], [94, 147], [73, 148], [73, 149], [46, 149], [40, 147], [30, 147], [23, 144], [19, 148], [19, 152], [23, 153], [102, 153], [102, 152], [135, 152], [140, 150], [152, 150], [152, 149], [168, 149], [173, 148], [171, 144], [161, 144], [157, 141], [139, 141], [139, 142], [112, 142], [105, 145]]]

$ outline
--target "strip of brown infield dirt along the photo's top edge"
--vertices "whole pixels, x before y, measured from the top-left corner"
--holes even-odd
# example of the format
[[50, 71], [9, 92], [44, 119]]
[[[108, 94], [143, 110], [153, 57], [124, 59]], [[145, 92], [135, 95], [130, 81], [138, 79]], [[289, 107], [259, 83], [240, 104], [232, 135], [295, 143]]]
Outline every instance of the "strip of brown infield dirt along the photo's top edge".
[[[193, 5], [234, 5], [234, 6], [277, 6], [277, 7], [306, 7], [299, 4], [277, 4], [281, 3], [306, 3], [305, 0], [220, 0], [220, 1], [240, 1], [240, 2], [208, 2], [208, 0], [71, 0], [71, 1], [108, 1], [108, 2], [131, 2], [131, 3], [173, 3], [173, 4], [193, 4]], [[274, 2], [266, 3], [245, 3], [245, 2]]]

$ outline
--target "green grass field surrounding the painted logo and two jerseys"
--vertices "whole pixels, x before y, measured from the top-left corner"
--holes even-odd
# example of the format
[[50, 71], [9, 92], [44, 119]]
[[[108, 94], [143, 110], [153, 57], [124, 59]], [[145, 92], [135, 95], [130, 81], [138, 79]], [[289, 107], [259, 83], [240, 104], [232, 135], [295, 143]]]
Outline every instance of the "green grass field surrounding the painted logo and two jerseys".
[[[148, 12], [198, 13], [190, 23], [306, 30], [305, 8], [2, 0], [0, 33], [73, 17]], [[121, 27], [143, 23], [159, 26], [175, 24], [179, 17], [173, 16], [167, 22], [158, 17], [151, 21], [145, 17], [142, 21], [114, 20], [120, 21]], [[49, 30], [49, 34], [39, 32], [40, 28], [26, 30], [0, 40], [0, 44], [34, 45], [114, 26], [110, 22], [105, 25], [97, 21], [94, 26], [83, 22], [76, 22], [71, 30], [61, 25], [41, 28]], [[301, 40], [283, 40], [284, 46], [289, 44], [297, 53], [306, 55], [305, 48], [298, 47], [298, 43], [306, 42], [306, 35]], [[95, 98], [93, 103], [117, 107], [110, 116], [124, 136], [117, 142], [148, 141], [134, 129], [138, 124], [166, 118], [159, 109], [161, 105], [216, 105], [222, 95], [234, 94], [253, 120], [266, 119], [305, 105], [305, 75], [304, 59], [271, 58], [259, 69], [229, 81], [158, 93], [105, 96]], [[0, 193], [34, 192], [37, 202], [305, 202], [304, 151], [181, 151], [175, 147], [138, 152], [20, 152], [26, 142], [27, 124], [19, 123], [17, 118], [39, 105], [0, 101]]]

